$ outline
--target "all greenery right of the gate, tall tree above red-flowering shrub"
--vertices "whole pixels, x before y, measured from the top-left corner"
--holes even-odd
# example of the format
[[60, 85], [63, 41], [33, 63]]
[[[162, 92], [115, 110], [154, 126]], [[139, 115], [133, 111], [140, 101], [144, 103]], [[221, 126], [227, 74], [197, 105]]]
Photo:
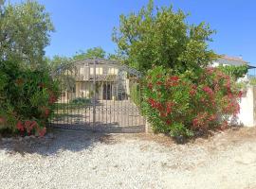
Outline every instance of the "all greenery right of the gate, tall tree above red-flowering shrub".
[[172, 136], [227, 126], [242, 95], [235, 80], [247, 72], [209, 68], [216, 58], [208, 45], [215, 31], [204, 22], [189, 25], [187, 16], [172, 6], [155, 9], [150, 0], [138, 13], [121, 15], [113, 33], [125, 63], [145, 74], [144, 115], [155, 131]]

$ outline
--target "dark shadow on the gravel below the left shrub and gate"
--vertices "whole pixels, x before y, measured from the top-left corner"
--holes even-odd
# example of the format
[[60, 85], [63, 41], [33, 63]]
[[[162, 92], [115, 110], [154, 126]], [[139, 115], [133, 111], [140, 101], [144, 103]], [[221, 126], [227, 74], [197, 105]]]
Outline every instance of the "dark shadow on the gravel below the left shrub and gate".
[[103, 132], [91, 132], [86, 130], [49, 129], [44, 138], [18, 138], [9, 141], [0, 139], [0, 150], [4, 149], [9, 154], [37, 153], [42, 156], [58, 155], [64, 150], [82, 151], [90, 149], [97, 143], [111, 144], [111, 135]]

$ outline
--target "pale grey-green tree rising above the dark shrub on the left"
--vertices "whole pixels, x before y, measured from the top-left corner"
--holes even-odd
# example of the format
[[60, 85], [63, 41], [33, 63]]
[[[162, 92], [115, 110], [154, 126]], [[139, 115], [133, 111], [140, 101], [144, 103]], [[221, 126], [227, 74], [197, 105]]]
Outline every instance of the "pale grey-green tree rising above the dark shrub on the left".
[[45, 7], [34, 1], [6, 3], [0, 16], [0, 59], [30, 68], [42, 65], [49, 34], [54, 30]]

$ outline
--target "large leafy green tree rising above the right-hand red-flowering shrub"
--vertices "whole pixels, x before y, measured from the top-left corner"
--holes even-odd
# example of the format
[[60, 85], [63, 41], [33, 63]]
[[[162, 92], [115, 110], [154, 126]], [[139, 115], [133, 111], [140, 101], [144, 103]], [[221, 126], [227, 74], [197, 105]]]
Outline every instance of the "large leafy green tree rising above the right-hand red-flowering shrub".
[[155, 9], [153, 0], [138, 13], [120, 15], [113, 41], [126, 63], [146, 71], [162, 65], [183, 73], [207, 66], [215, 54], [209, 50], [214, 33], [205, 23], [189, 25], [187, 14], [171, 7]]

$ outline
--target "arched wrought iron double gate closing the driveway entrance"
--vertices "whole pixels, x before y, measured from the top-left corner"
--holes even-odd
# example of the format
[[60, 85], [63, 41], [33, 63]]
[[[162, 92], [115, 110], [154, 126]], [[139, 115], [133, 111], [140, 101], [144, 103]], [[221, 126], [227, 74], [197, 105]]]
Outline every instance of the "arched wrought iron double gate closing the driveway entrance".
[[50, 126], [109, 132], [141, 132], [140, 73], [112, 60], [79, 60], [60, 67], [54, 77], [63, 94]]

